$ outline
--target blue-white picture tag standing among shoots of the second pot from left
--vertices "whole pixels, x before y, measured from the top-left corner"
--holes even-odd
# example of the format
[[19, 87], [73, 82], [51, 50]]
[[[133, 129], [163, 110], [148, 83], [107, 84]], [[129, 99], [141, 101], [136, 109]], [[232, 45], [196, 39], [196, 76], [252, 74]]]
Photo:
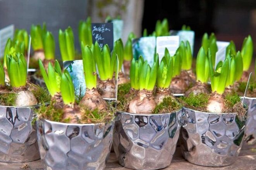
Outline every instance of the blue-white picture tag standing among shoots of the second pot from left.
[[76, 96], [84, 96], [86, 92], [86, 83], [84, 79], [84, 68], [82, 60], [64, 61], [63, 68], [69, 71], [74, 83]]

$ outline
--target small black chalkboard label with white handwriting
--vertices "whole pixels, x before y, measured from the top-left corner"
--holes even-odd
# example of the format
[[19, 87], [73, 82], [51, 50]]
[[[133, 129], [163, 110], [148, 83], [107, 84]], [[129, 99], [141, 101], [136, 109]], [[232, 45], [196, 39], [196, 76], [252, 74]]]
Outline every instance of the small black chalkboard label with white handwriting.
[[98, 41], [100, 47], [108, 44], [110, 51], [113, 49], [113, 23], [92, 23], [91, 30], [93, 35], [93, 44]]

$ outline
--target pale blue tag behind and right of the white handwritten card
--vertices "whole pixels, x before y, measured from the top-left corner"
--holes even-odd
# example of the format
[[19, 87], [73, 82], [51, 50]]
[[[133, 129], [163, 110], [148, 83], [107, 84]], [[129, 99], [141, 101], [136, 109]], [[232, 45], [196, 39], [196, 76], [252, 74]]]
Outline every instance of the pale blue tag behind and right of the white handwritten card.
[[180, 42], [188, 41], [191, 47], [191, 52], [193, 55], [194, 52], [194, 39], [195, 39], [195, 32], [194, 31], [186, 31], [186, 30], [170, 30], [170, 35], [178, 35], [180, 37]]

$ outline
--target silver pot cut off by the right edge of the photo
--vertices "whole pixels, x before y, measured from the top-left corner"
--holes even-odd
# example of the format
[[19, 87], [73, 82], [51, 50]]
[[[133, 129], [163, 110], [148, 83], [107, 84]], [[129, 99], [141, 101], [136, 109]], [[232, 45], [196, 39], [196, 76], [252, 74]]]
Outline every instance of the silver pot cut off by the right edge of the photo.
[[256, 148], [256, 98], [245, 97], [244, 103], [247, 104], [248, 111], [243, 147]]

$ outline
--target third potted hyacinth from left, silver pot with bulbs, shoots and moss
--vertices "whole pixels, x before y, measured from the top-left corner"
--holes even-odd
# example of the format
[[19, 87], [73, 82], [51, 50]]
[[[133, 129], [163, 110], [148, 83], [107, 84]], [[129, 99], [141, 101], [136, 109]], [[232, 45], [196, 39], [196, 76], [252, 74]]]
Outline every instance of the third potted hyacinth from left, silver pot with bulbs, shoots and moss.
[[[142, 57], [141, 57], [142, 58]], [[135, 59], [131, 62], [130, 86], [119, 88], [118, 104], [113, 135], [113, 148], [120, 165], [136, 170], [154, 170], [170, 165], [179, 138], [180, 104], [169, 93], [160, 104], [153, 95], [156, 81], [158, 88], [168, 91], [172, 62], [155, 62]]]

